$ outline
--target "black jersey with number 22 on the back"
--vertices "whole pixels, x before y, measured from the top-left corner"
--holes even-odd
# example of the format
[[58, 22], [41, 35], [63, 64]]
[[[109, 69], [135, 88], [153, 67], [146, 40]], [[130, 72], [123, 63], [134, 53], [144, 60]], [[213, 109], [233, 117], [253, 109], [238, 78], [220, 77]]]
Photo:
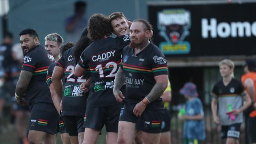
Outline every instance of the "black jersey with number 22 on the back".
[[65, 72], [65, 84], [63, 85], [62, 115], [84, 116], [88, 92], [80, 90], [80, 85], [89, 78], [89, 73], [81, 77], [74, 75], [76, 60], [74, 59], [74, 47], [65, 51], [56, 66], [60, 66]]

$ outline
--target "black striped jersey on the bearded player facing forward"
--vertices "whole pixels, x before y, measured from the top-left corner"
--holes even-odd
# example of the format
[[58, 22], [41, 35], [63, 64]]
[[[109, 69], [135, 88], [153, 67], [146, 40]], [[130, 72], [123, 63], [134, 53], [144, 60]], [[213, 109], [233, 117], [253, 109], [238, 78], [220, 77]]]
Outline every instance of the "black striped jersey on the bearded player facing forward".
[[[126, 46], [122, 53], [122, 65], [126, 75], [126, 102], [136, 104], [148, 95], [156, 84], [155, 76], [168, 75], [167, 61], [154, 44], [134, 55], [134, 48]], [[162, 99], [151, 102], [148, 109], [163, 109]]]

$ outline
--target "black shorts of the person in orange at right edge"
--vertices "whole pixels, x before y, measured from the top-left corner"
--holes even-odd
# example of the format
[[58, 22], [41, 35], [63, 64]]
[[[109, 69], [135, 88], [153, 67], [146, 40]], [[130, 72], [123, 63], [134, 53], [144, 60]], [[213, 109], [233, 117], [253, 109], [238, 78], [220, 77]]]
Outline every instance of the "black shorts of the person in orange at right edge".
[[256, 142], [256, 118], [248, 117], [247, 120], [247, 133], [249, 143]]

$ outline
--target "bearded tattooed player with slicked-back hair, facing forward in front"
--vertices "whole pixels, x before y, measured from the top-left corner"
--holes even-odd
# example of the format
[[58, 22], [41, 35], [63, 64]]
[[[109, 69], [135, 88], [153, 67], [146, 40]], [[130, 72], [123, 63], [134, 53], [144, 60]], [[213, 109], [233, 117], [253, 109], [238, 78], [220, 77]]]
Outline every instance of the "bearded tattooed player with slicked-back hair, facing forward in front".
[[[151, 30], [146, 20], [134, 20], [131, 43], [122, 52], [122, 65], [113, 89], [116, 100], [124, 102], [119, 118], [119, 144], [131, 144], [138, 131], [142, 131], [145, 143], [160, 142], [164, 113], [160, 96], [168, 85], [168, 68], [163, 53], [149, 41]], [[124, 97], [120, 86], [125, 81]]]

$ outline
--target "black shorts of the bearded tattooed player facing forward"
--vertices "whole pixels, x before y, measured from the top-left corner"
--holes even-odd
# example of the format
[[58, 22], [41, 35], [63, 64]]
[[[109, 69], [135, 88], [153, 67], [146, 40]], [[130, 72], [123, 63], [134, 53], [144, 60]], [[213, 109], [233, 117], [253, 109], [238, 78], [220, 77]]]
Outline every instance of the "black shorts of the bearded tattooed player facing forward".
[[164, 109], [148, 110], [146, 108], [141, 117], [137, 117], [133, 113], [134, 107], [135, 105], [125, 103], [121, 109], [119, 121], [135, 123], [136, 129], [145, 133], [161, 133]]

